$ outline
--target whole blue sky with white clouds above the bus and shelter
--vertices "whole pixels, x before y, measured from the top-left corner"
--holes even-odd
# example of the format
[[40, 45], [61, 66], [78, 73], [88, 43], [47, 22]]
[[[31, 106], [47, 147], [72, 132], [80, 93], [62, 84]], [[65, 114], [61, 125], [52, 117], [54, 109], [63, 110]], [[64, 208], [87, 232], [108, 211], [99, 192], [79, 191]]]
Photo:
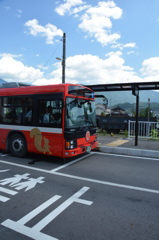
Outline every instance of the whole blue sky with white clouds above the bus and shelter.
[[158, 0], [0, 0], [0, 78], [37, 85], [159, 81]]

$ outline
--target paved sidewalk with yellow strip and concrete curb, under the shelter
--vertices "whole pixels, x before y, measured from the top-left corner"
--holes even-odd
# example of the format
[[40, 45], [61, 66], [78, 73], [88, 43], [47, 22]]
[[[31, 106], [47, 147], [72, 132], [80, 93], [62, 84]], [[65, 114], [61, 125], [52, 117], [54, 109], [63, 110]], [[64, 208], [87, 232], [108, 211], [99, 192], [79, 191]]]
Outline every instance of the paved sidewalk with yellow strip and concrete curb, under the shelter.
[[98, 142], [101, 152], [159, 158], [159, 141], [138, 139], [138, 146], [135, 146], [135, 139], [98, 135]]

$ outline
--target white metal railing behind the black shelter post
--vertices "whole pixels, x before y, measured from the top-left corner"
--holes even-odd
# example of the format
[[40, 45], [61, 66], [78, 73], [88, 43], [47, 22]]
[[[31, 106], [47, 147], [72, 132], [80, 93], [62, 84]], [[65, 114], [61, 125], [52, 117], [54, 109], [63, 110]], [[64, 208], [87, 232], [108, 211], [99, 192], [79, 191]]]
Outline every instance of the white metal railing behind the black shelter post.
[[[135, 137], [135, 121], [129, 120], [128, 137]], [[159, 139], [159, 122], [138, 122], [138, 137], [139, 138], [154, 138]]]

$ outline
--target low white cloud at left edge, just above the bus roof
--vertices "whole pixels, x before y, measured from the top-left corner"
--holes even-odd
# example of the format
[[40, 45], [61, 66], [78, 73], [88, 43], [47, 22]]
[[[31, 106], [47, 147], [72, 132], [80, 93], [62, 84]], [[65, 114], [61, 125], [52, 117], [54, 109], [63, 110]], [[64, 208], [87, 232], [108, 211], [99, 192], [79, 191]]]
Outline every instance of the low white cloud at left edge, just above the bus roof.
[[9, 82], [32, 82], [42, 78], [43, 72], [25, 66], [11, 56], [5, 56], [0, 59], [0, 77]]

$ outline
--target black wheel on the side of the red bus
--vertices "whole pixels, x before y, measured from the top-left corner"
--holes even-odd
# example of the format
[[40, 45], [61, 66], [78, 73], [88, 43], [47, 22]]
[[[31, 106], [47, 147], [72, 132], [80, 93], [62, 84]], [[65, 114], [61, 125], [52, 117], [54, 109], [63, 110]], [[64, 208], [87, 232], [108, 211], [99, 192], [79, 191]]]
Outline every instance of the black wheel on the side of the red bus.
[[14, 157], [24, 157], [27, 153], [25, 138], [19, 134], [13, 134], [9, 139], [9, 150]]

